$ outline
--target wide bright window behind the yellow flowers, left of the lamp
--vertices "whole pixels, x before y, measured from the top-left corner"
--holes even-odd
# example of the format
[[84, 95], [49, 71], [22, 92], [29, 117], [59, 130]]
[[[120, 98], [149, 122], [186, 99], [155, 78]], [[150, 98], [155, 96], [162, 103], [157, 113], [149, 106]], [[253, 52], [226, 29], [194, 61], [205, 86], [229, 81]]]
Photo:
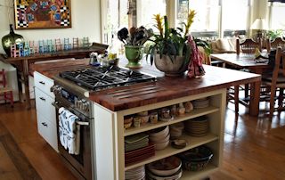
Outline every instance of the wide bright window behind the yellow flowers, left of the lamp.
[[[197, 12], [191, 26], [194, 37], [245, 35], [249, 27], [249, 2], [250, 0], [177, 0], [176, 26], [186, 20], [187, 12], [191, 9]], [[187, 10], [185, 6], [188, 6]]]

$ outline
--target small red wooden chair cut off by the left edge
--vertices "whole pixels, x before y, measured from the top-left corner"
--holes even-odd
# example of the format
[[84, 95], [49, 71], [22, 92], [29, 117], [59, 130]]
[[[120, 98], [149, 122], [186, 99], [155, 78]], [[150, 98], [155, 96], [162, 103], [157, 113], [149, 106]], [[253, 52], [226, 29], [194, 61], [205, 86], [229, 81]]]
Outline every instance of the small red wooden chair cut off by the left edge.
[[5, 71], [0, 71], [0, 96], [4, 97], [4, 102], [7, 100], [10, 101], [11, 106], [13, 107], [13, 97], [12, 97], [12, 88], [7, 86]]

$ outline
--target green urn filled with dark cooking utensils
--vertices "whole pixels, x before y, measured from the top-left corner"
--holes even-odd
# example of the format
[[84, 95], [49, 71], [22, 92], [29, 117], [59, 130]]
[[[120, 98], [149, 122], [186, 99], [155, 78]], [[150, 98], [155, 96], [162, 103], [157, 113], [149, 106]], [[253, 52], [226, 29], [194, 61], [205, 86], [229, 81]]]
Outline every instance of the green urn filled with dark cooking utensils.
[[143, 44], [151, 37], [151, 29], [140, 27], [131, 28], [129, 31], [126, 28], [118, 31], [118, 39], [125, 44], [125, 53], [128, 63], [128, 68], [141, 68], [140, 61], [144, 52]]

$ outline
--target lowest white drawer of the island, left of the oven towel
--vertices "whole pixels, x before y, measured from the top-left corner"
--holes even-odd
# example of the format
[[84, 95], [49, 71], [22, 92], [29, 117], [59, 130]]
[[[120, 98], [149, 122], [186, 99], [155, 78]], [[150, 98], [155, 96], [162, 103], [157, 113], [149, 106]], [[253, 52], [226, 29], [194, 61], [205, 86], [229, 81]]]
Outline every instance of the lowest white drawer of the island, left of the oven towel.
[[37, 111], [37, 131], [49, 143], [55, 151], [58, 151], [57, 130], [49, 120]]

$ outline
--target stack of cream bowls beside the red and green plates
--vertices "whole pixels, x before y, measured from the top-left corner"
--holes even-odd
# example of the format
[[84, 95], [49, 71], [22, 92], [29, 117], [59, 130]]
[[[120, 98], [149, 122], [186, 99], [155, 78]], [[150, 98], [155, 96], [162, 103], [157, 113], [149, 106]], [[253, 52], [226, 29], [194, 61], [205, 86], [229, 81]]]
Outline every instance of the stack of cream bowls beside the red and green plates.
[[155, 150], [163, 150], [169, 144], [169, 127], [161, 127], [151, 131], [150, 140], [154, 144]]

